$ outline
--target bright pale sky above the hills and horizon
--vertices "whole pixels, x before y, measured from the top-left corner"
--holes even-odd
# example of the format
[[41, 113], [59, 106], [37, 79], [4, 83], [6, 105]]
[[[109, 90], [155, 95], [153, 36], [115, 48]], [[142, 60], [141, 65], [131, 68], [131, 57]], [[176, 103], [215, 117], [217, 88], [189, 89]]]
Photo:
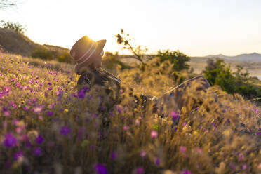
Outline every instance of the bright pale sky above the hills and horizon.
[[82, 36], [106, 39], [122, 51], [121, 29], [148, 53], [169, 49], [189, 56], [261, 53], [260, 0], [17, 0], [0, 20], [26, 25], [39, 44], [72, 48]]

